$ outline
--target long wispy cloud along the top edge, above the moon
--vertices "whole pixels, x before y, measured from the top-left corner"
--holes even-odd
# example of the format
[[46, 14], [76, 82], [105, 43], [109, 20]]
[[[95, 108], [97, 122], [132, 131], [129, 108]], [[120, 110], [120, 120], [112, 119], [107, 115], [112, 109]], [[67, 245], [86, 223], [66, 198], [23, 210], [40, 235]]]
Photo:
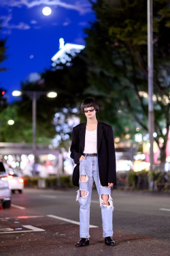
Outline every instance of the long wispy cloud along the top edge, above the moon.
[[[67, 2], [68, 3], [67, 3]], [[21, 8], [23, 5], [27, 8], [33, 8], [38, 5], [48, 5], [48, 6], [60, 6], [69, 10], [75, 10], [80, 12], [80, 14], [86, 14], [91, 12], [90, 3], [88, 0], [72, 1], [72, 4], [69, 0], [0, 0], [1, 6], [18, 7]]]

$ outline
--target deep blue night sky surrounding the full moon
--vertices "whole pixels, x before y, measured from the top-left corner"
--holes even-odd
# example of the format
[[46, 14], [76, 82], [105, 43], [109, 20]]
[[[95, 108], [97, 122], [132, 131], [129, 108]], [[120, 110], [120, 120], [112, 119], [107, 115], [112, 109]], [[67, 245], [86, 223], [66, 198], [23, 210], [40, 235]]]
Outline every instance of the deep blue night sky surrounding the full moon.
[[[44, 16], [44, 7], [52, 14]], [[31, 72], [50, 68], [58, 51], [59, 38], [66, 43], [84, 44], [84, 31], [94, 19], [88, 0], [0, 0], [1, 38], [7, 37], [7, 59], [1, 66], [0, 87], [12, 102], [14, 89], [20, 89]]]

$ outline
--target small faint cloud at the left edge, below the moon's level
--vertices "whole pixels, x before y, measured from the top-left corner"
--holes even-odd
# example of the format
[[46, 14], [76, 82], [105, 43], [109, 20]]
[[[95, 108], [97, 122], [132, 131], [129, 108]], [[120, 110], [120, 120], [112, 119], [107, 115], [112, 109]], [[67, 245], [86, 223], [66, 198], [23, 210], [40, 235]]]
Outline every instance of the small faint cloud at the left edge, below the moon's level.
[[10, 24], [10, 20], [12, 20], [12, 14], [10, 13], [7, 16], [0, 16], [0, 20], [2, 20], [1, 27], [5, 28], [6, 30], [3, 33], [11, 33], [12, 29], [20, 29], [20, 30], [27, 30], [31, 27], [26, 23], [20, 22], [18, 25]]

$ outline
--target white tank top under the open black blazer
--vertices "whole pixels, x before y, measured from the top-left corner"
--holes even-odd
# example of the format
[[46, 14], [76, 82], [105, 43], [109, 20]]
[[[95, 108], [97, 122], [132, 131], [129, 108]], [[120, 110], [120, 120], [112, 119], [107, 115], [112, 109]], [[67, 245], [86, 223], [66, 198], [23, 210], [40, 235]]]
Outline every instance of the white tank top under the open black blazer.
[[97, 153], [97, 128], [92, 132], [86, 130], [84, 152], [86, 154]]

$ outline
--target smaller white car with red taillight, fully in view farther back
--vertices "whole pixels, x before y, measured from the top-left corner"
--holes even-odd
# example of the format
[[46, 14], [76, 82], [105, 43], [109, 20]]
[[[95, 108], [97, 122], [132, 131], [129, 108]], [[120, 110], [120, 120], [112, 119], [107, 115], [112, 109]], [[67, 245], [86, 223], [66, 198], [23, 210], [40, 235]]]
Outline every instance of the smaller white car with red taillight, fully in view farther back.
[[18, 191], [20, 194], [22, 194], [24, 189], [24, 180], [22, 177], [20, 177], [20, 175], [18, 175], [18, 173], [10, 171], [8, 175], [8, 183], [10, 185], [12, 193]]

